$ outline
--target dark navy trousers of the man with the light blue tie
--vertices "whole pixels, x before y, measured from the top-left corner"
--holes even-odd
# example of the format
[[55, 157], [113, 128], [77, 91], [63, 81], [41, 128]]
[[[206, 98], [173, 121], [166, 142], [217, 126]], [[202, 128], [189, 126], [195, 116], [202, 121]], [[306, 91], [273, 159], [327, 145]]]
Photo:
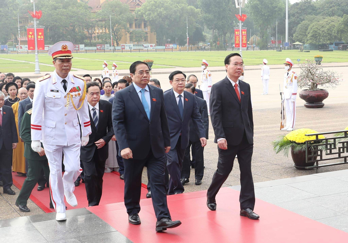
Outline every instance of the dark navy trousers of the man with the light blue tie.
[[[136, 152], [136, 151], [133, 151]], [[170, 218], [167, 194], [164, 185], [166, 157], [155, 158], [150, 149], [143, 160], [123, 159], [124, 163], [124, 205], [128, 215], [140, 212], [141, 176], [144, 166], [150, 176], [151, 199], [157, 220]]]

